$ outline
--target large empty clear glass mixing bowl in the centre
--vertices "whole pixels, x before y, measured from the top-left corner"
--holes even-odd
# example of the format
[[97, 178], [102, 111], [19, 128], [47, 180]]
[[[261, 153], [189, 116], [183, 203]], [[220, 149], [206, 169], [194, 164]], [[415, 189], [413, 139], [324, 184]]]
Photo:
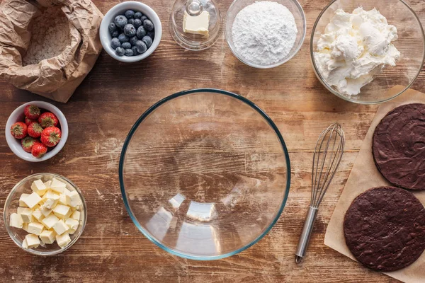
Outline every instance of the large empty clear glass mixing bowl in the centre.
[[120, 158], [137, 228], [183, 258], [214, 260], [259, 241], [283, 211], [290, 162], [258, 106], [227, 91], [164, 98], [130, 130]]

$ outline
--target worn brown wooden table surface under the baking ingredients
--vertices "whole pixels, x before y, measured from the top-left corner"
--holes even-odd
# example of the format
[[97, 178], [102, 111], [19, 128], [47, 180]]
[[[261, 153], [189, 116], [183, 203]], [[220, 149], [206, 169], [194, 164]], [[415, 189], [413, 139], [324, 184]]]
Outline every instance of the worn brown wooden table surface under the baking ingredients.
[[[217, 1], [222, 13], [231, 0]], [[94, 0], [106, 13], [118, 1]], [[46, 100], [0, 81], [0, 207], [18, 180], [52, 172], [70, 178], [84, 193], [89, 219], [83, 236], [65, 253], [42, 258], [18, 248], [0, 222], [1, 282], [396, 282], [324, 246], [324, 232], [376, 106], [355, 105], [329, 93], [310, 66], [312, 25], [326, 0], [302, 0], [307, 37], [290, 62], [275, 69], [247, 67], [230, 52], [222, 35], [203, 52], [183, 50], [169, 34], [173, 1], [146, 0], [164, 26], [161, 45], [139, 64], [119, 64], [102, 52], [94, 69], [68, 103], [54, 103], [69, 122], [64, 149], [44, 163], [28, 163], [8, 149], [4, 126], [22, 103]], [[425, 21], [425, 1], [408, 3]], [[413, 88], [425, 91], [422, 71]], [[120, 194], [118, 160], [135, 120], [157, 100], [190, 88], [222, 88], [254, 101], [276, 122], [289, 149], [292, 183], [277, 224], [259, 243], [224, 260], [178, 258], [151, 243], [132, 224]], [[319, 212], [310, 250], [300, 265], [294, 252], [310, 202], [312, 149], [319, 132], [339, 121], [346, 154]]]

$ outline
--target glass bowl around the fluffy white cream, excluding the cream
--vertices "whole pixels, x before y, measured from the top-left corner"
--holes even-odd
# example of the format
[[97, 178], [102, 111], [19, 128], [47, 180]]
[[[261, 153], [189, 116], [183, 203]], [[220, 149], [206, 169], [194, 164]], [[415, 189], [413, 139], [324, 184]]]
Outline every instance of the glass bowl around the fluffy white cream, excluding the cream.
[[[330, 86], [326, 79], [319, 74], [314, 52], [317, 42], [324, 33], [324, 29], [334, 16], [334, 12], [342, 8], [352, 13], [355, 8], [363, 6], [365, 11], [376, 8], [382, 16], [387, 18], [387, 23], [395, 25], [398, 39], [392, 42], [401, 53], [396, 67], [385, 67], [382, 73], [375, 75], [371, 83], [361, 88], [361, 93], [356, 96], [346, 96]], [[310, 40], [310, 54], [314, 73], [319, 81], [334, 95], [353, 103], [373, 104], [382, 103], [399, 96], [407, 90], [419, 76], [425, 59], [424, 30], [412, 8], [402, 0], [334, 0], [329, 3], [314, 23]], [[397, 91], [389, 92], [390, 88], [401, 86]]]

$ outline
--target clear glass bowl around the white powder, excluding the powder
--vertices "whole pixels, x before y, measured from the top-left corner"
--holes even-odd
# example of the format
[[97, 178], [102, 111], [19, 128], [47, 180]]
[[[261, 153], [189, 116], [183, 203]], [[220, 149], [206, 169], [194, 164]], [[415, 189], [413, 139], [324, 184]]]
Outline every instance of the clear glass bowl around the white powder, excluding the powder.
[[254, 62], [249, 62], [248, 59], [244, 58], [242, 54], [239, 54], [236, 47], [234, 46], [233, 38], [232, 38], [232, 26], [234, 23], [234, 18], [236, 18], [239, 11], [241, 11], [246, 6], [249, 6], [251, 4], [254, 4], [255, 2], [259, 2], [259, 0], [234, 0], [232, 5], [230, 5], [229, 9], [227, 10], [227, 16], [226, 16], [226, 23], [225, 23], [225, 35], [227, 40], [227, 45], [229, 45], [230, 50], [232, 50], [232, 53], [234, 54], [237, 59], [239, 59], [244, 64], [247, 64], [248, 66], [259, 68], [259, 69], [268, 69], [268, 68], [274, 68], [278, 67], [281, 64], [288, 62], [290, 59], [292, 59], [295, 54], [300, 50], [302, 46], [302, 42], [304, 42], [305, 39], [305, 33], [306, 33], [306, 23], [305, 23], [305, 14], [302, 10], [302, 6], [300, 3], [298, 3], [297, 0], [269, 0], [272, 2], [277, 2], [278, 4], [282, 4], [288, 10], [293, 14], [295, 18], [295, 24], [297, 25], [297, 37], [295, 39], [294, 45], [292, 50], [286, 55], [283, 59], [281, 59], [279, 62], [273, 63], [273, 64], [256, 64]]

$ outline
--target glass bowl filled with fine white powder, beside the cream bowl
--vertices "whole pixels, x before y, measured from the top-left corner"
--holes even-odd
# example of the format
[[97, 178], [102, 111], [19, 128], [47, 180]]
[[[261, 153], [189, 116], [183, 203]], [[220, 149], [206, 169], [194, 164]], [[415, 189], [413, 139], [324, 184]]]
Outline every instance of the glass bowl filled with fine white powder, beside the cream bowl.
[[305, 14], [296, 0], [235, 0], [227, 11], [227, 44], [251, 67], [288, 62], [300, 50], [305, 32]]

